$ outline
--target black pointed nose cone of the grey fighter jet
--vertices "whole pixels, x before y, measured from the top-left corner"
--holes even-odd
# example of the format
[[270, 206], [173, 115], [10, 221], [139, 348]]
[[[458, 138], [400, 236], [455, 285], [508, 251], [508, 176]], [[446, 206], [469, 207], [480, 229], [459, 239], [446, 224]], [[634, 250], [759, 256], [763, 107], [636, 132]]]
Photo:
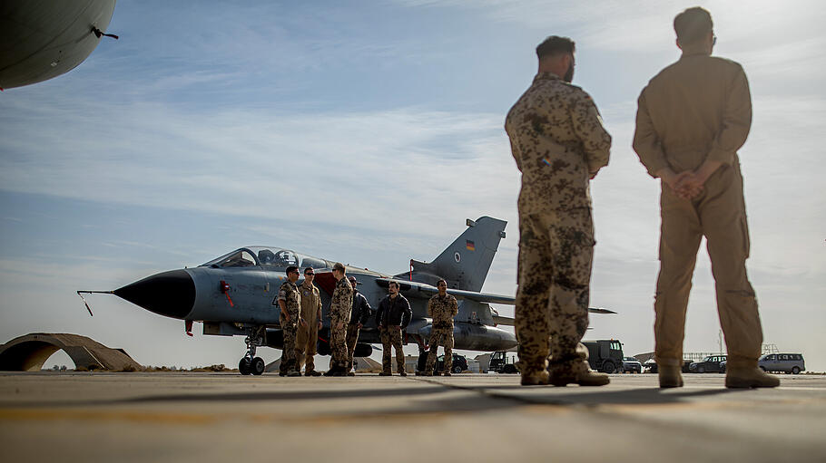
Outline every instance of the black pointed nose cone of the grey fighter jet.
[[172, 318], [184, 318], [195, 304], [195, 282], [185, 270], [171, 270], [114, 290], [118, 297]]

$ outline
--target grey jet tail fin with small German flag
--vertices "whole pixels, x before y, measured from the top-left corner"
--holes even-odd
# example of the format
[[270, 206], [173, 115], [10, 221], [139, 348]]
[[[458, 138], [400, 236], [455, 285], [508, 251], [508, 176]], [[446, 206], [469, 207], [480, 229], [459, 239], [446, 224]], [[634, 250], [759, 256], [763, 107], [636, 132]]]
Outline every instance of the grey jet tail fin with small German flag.
[[481, 291], [499, 241], [505, 237], [506, 225], [506, 221], [493, 217], [467, 219], [467, 230], [433, 262], [411, 259], [412, 270], [397, 277], [434, 286], [439, 278], [444, 278], [449, 288]]

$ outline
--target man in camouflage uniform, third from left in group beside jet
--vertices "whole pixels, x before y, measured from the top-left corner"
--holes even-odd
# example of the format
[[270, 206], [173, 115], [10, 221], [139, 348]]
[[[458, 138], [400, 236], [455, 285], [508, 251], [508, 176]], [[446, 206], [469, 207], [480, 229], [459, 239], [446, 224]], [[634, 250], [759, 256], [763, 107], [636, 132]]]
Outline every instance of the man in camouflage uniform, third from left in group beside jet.
[[353, 287], [347, 280], [344, 265], [333, 265], [336, 289], [329, 301], [329, 371], [325, 376], [347, 375], [347, 324], [350, 306], [353, 304]]

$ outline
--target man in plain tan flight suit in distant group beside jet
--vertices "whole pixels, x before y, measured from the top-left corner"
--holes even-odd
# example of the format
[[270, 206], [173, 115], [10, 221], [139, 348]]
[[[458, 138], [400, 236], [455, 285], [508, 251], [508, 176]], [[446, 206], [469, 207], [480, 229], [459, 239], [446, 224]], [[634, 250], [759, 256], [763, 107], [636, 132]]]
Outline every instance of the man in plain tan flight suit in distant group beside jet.
[[312, 267], [304, 269], [304, 282], [299, 286], [301, 293], [301, 319], [305, 324], [299, 326], [296, 334], [296, 362], [297, 370], [300, 370], [301, 363], [306, 362], [304, 376], [320, 376], [316, 371], [314, 356], [316, 354], [316, 343], [319, 340], [319, 330], [321, 329], [321, 294], [319, 288], [312, 284], [315, 278]]

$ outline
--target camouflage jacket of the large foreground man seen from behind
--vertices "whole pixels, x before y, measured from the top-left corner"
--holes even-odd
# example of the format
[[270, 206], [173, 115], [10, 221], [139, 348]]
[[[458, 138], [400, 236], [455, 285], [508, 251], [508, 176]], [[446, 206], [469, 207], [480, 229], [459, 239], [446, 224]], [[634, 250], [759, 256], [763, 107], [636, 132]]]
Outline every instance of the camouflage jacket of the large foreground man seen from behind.
[[522, 172], [520, 214], [591, 207], [589, 176], [608, 165], [611, 135], [585, 91], [540, 72], [508, 111], [505, 130]]

